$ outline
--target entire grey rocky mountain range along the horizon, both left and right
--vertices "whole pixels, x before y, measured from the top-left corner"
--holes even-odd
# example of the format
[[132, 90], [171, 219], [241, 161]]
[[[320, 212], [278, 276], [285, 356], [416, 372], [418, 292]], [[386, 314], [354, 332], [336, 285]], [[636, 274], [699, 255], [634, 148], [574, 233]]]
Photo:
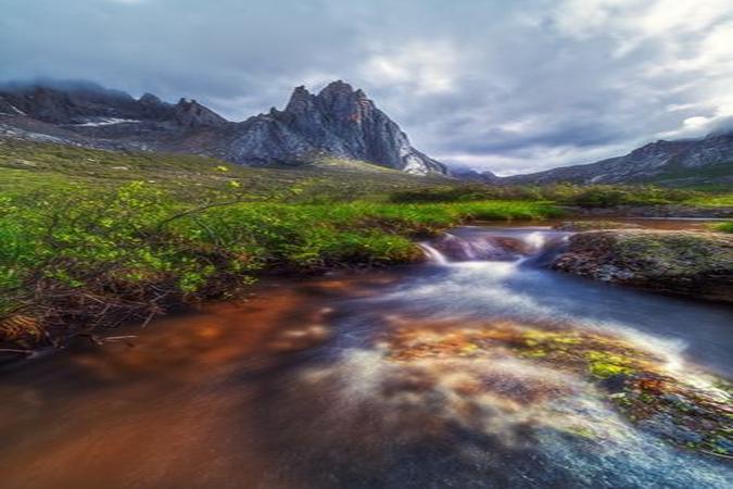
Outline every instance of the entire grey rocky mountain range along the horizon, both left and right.
[[[205, 154], [243, 165], [358, 160], [416, 175], [441, 174], [493, 185], [733, 185], [733, 131], [652, 142], [585, 165], [497, 177], [448, 168], [415, 149], [362, 90], [333, 82], [293, 90], [283, 110], [230, 122], [195, 100], [139, 99], [85, 82], [0, 85], [0, 136], [110, 150]], [[369, 165], [367, 165], [369, 166]], [[362, 166], [364, 167], [364, 166]]]

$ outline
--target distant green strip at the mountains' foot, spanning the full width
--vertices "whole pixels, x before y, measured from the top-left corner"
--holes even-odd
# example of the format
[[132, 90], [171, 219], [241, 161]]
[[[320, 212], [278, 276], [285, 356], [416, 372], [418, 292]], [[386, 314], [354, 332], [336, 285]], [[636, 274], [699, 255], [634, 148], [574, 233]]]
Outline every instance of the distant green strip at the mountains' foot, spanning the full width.
[[702, 192], [652, 185], [486, 186], [441, 176], [418, 178], [361, 161], [332, 158], [317, 158], [311, 164], [250, 168], [201, 155], [112, 152], [0, 139], [0, 191], [48, 190], [69, 181], [94, 188], [146, 181], [186, 199], [238, 188], [248, 200], [291, 203], [543, 200], [585, 208], [669, 203], [733, 205], [730, 189]]

